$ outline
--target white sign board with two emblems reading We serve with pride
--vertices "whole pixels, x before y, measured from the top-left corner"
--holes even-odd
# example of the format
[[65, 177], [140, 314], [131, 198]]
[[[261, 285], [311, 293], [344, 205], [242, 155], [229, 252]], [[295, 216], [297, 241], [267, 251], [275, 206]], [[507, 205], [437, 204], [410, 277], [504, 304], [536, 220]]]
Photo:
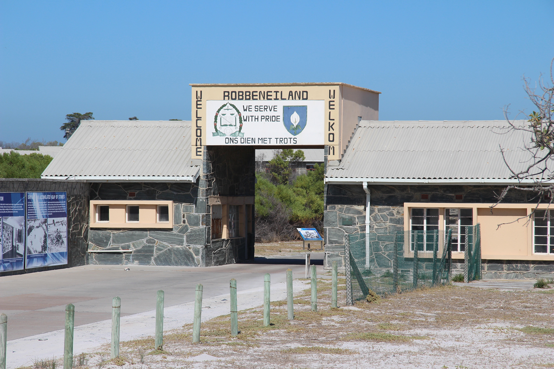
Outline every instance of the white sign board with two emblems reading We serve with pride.
[[208, 145], [321, 145], [324, 100], [206, 101]]

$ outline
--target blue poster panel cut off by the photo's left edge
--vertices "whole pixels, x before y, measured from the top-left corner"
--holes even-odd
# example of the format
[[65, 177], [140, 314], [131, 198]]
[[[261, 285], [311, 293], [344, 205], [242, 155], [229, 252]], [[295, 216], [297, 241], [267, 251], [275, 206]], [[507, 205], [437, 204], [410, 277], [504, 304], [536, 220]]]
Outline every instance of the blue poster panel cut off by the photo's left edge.
[[0, 192], [0, 272], [23, 269], [25, 193]]

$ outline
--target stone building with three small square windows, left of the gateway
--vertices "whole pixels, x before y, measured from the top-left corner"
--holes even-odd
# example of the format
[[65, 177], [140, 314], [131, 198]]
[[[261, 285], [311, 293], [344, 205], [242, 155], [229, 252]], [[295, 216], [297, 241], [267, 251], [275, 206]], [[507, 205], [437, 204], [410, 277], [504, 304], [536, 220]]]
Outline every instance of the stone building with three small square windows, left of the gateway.
[[[193, 163], [190, 137], [184, 121], [81, 122], [42, 178], [88, 183], [86, 263], [212, 266], [253, 258], [254, 150], [207, 147]], [[222, 202], [237, 220], [228, 229], [220, 216], [225, 226], [214, 234], [211, 208]]]

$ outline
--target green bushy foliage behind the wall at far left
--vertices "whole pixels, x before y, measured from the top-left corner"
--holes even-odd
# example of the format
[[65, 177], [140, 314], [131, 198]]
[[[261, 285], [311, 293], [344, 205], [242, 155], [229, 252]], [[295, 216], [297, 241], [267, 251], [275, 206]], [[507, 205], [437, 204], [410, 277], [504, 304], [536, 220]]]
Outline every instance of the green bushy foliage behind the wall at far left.
[[52, 161], [50, 155], [32, 153], [21, 155], [17, 151], [0, 155], [0, 178], [40, 178]]

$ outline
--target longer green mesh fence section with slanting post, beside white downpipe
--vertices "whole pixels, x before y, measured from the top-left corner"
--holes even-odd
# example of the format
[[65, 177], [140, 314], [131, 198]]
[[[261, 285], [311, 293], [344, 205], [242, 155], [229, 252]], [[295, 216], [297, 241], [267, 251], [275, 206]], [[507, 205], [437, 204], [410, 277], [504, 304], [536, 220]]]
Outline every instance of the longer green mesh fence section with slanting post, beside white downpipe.
[[452, 230], [367, 236], [346, 239], [347, 304], [366, 298], [370, 289], [387, 295], [450, 282]]

